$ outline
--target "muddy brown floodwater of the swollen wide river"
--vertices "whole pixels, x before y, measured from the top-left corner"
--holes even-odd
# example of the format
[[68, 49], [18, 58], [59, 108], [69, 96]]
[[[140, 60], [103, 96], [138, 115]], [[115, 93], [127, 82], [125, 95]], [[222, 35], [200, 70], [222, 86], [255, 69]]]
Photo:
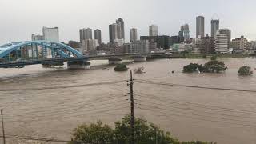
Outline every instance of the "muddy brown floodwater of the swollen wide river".
[[[256, 90], [255, 75], [237, 74], [244, 65], [254, 70], [256, 59], [222, 61], [228, 66], [225, 73], [200, 75], [183, 74], [182, 67], [190, 62], [203, 64], [203, 59], [128, 64], [130, 70], [138, 66], [146, 70], [145, 74], [134, 74], [135, 116], [154, 122], [182, 141], [256, 143], [256, 92], [167, 84]], [[114, 67], [102, 64], [107, 61], [92, 62], [91, 70], [42, 66], [0, 69], [0, 108], [4, 110], [6, 134], [70, 140], [72, 130], [82, 122], [102, 120], [113, 126], [130, 111], [126, 85], [130, 72], [117, 73]]]

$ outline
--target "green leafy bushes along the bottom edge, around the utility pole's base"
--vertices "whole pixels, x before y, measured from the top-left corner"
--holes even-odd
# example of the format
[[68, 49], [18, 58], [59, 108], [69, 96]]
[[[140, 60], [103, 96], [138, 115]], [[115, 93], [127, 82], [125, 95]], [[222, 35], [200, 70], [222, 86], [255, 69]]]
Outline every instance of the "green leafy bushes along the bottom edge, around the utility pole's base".
[[[138, 118], [134, 122], [134, 135], [136, 144], [214, 144], [201, 141], [179, 142], [170, 132], [164, 132], [153, 123]], [[129, 144], [130, 139], [130, 116], [127, 115], [122, 121], [114, 122], [114, 129], [100, 121], [90, 125], [82, 124], [74, 129], [69, 144]]]

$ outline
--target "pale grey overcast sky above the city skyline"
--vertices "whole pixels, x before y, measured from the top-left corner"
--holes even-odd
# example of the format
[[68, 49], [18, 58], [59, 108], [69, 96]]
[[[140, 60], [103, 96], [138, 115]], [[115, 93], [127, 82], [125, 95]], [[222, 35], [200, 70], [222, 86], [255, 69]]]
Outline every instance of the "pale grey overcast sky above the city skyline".
[[188, 23], [194, 37], [196, 16], [205, 16], [210, 34], [214, 14], [232, 38], [256, 40], [255, 6], [255, 0], [0, 0], [0, 43], [30, 40], [31, 34], [42, 34], [42, 26], [58, 26], [61, 42], [78, 41], [80, 28], [98, 28], [108, 42], [108, 25], [117, 18], [125, 21], [126, 42], [130, 28], [148, 35], [151, 24], [158, 25], [158, 34], [177, 35]]

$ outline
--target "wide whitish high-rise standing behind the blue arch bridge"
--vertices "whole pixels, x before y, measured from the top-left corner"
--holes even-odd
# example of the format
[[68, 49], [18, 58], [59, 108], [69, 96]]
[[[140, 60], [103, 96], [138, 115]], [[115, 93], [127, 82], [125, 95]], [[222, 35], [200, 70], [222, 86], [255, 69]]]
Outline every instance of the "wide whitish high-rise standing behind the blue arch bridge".
[[43, 39], [50, 42], [59, 42], [58, 27], [42, 27]]

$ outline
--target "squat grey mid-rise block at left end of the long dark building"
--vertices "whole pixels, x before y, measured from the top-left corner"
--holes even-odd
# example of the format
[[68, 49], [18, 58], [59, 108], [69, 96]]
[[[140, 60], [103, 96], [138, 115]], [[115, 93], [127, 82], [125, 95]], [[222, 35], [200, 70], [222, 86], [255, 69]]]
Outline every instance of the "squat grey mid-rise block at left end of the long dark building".
[[149, 53], [149, 47], [148, 40], [140, 40], [130, 43], [130, 50], [132, 53]]

